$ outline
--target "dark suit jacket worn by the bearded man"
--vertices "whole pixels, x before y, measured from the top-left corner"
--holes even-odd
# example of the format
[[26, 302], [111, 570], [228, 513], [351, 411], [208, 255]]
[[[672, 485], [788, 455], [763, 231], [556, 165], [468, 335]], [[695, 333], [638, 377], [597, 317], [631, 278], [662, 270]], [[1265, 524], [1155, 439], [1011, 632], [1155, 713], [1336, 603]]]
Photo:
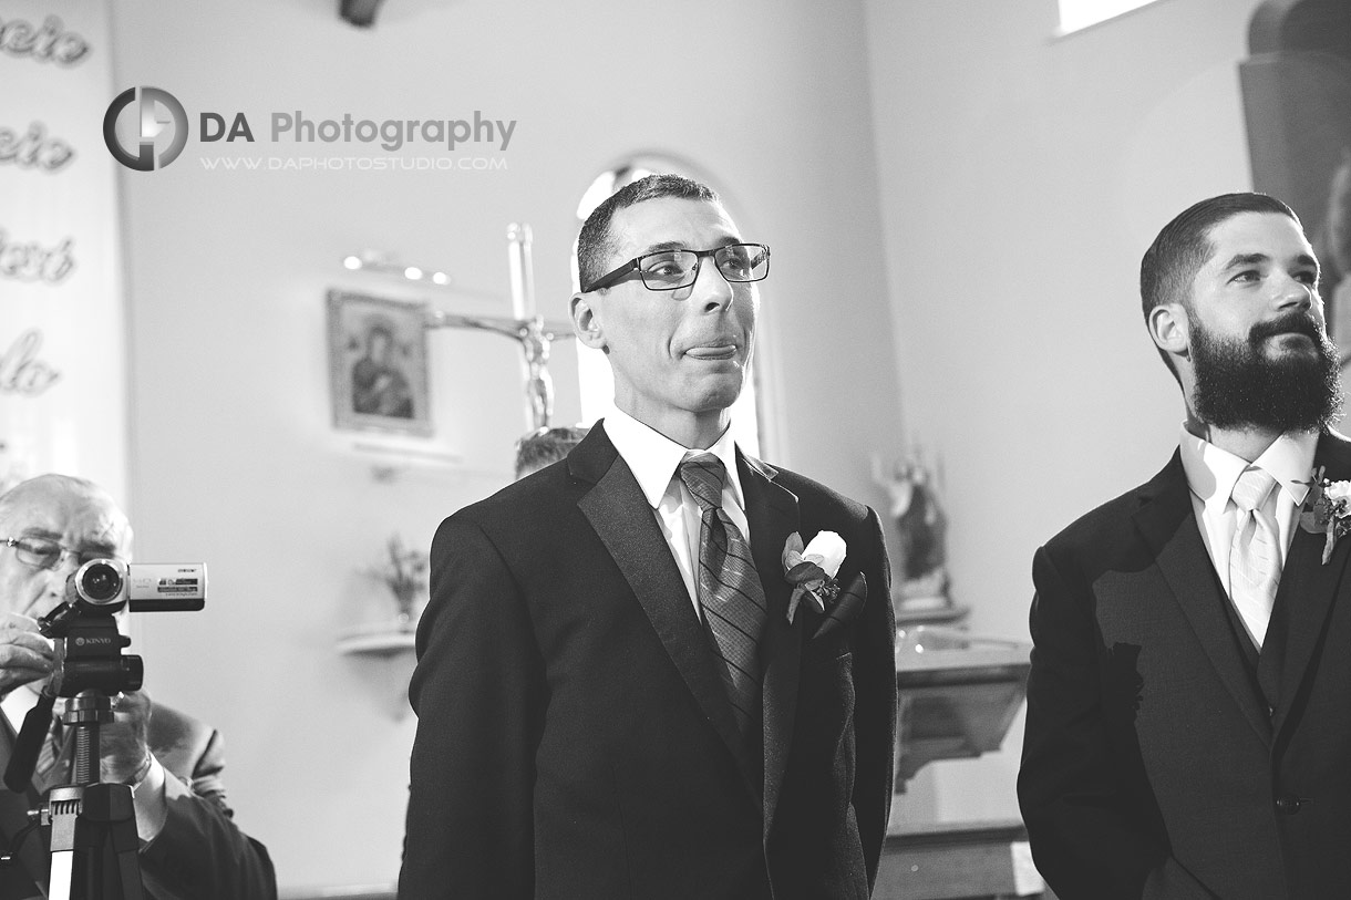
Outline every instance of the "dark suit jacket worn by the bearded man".
[[[1351, 443], [1317, 466], [1351, 478]], [[1256, 670], [1181, 455], [1038, 550], [1019, 796], [1063, 900], [1351, 897], [1351, 538], [1323, 545], [1296, 526]]]

